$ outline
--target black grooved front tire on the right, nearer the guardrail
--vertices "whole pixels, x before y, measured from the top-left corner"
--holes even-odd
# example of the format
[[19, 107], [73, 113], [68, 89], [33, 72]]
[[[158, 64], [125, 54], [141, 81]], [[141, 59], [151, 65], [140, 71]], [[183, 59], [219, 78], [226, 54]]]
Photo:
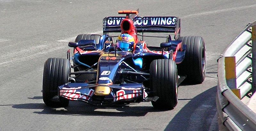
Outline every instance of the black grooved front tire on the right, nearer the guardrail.
[[150, 87], [159, 99], [151, 101], [158, 109], [173, 109], [178, 103], [178, 74], [172, 59], [156, 59], [150, 64]]

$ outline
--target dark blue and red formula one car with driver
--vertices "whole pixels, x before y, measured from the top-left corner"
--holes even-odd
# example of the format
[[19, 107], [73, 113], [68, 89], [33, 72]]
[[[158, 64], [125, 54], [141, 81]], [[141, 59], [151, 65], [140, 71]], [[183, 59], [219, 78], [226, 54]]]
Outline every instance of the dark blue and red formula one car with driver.
[[[71, 58], [68, 51], [67, 59], [46, 60], [43, 100], [47, 106], [65, 107], [69, 100], [100, 106], [151, 101], [153, 107], [172, 109], [183, 80], [204, 81], [204, 39], [180, 37], [178, 17], [139, 17], [138, 10], [118, 13], [126, 16], [103, 19], [102, 36], [81, 34], [69, 42], [74, 48]], [[113, 32], [121, 35], [110, 36]], [[143, 38], [156, 36], [145, 32], [174, 33], [174, 40], [168, 35], [160, 47], [147, 46]]]

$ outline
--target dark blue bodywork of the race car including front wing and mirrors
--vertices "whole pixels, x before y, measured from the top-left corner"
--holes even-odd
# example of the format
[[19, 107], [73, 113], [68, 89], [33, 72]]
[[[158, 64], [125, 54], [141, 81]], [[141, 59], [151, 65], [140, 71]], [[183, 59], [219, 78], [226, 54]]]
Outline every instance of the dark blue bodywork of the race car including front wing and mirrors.
[[[96, 84], [89, 83], [66, 83], [59, 86], [59, 98], [65, 97], [69, 100], [81, 100], [92, 105], [108, 105], [118, 101], [144, 101], [148, 96], [146, 88], [141, 83], [122, 83], [115, 84], [120, 80], [123, 69], [129, 69], [130, 72], [142, 72], [145, 71], [145, 59], [172, 59], [170, 56], [173, 51], [176, 50], [178, 44], [182, 44], [182, 41], [169, 41], [162, 44], [164, 52], [151, 51], [145, 48], [145, 42], [138, 42], [133, 52], [118, 51], [115, 49], [113, 43], [105, 43], [109, 40], [108, 35], [103, 35], [100, 38], [99, 44], [96, 44], [97, 50], [87, 51], [85, 47], [84, 52], [78, 52], [73, 56], [73, 62], [76, 65], [84, 66], [86, 68], [92, 68], [92, 65], [86, 64], [86, 60], [91, 61], [92, 56], [97, 56], [97, 79]], [[112, 40], [112, 39], [111, 39]], [[93, 40], [81, 40], [78, 45], [86, 46], [93, 45]], [[159, 48], [159, 47], [158, 47]], [[176, 63], [182, 62], [185, 56], [186, 45], [182, 45], [182, 51], [176, 53]], [[81, 61], [80, 57], [87, 58]], [[150, 62], [150, 61], [149, 61]], [[147, 65], [149, 66], [149, 65]], [[147, 69], [148, 70], [148, 69]], [[149, 74], [149, 71], [144, 72]], [[134, 79], [143, 81], [146, 78], [142, 75], [135, 75]], [[94, 98], [94, 91], [97, 86], [106, 86], [111, 89], [111, 92], [102, 97]]]

